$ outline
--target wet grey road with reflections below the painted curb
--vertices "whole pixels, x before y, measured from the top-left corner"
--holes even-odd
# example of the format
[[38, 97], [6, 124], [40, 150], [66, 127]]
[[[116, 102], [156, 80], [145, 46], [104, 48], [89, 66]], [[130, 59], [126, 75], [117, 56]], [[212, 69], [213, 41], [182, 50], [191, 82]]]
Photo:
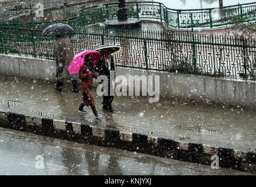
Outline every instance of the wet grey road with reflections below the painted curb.
[[249, 174], [229, 169], [215, 170], [206, 165], [78, 144], [0, 127], [0, 175]]

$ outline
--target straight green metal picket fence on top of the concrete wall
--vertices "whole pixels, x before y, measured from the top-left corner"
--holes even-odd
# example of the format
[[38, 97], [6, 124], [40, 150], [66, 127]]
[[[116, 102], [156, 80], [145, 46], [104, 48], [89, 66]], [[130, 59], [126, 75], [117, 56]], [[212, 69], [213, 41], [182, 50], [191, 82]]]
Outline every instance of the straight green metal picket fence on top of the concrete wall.
[[[0, 53], [53, 59], [54, 37], [41, 33], [42, 29], [2, 26]], [[255, 79], [256, 42], [243, 37], [80, 27], [70, 38], [74, 54], [101, 44], [122, 46], [123, 52], [115, 57], [120, 66]]]

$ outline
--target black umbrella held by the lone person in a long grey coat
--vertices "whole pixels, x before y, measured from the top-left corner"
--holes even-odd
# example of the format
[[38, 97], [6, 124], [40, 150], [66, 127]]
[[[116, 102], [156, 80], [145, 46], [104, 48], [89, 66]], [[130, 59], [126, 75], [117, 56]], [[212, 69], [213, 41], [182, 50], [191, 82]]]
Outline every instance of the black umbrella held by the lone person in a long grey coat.
[[71, 33], [74, 30], [71, 26], [64, 23], [56, 23], [50, 26], [47, 26], [46, 29], [43, 30], [43, 35], [53, 34], [56, 36], [65, 36], [65, 34]]

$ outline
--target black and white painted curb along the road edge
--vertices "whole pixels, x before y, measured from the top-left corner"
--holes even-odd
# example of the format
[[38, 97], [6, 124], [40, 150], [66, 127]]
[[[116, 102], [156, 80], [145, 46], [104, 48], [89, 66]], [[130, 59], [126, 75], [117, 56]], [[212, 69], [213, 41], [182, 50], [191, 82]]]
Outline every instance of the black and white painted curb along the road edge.
[[35, 134], [63, 138], [96, 146], [115, 147], [157, 157], [211, 165], [212, 155], [219, 157], [220, 168], [256, 173], [256, 153], [206, 144], [174, 141], [128, 131], [102, 129], [68, 120], [32, 117], [0, 111], [0, 126]]

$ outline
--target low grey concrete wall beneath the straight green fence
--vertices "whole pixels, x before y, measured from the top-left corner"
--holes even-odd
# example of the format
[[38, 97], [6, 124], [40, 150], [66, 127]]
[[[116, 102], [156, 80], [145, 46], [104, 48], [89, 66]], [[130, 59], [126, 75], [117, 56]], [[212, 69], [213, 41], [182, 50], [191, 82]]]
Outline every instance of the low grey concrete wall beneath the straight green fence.
[[[53, 60], [33, 57], [0, 55], [0, 74], [53, 82], [56, 81], [56, 63]], [[161, 98], [189, 99], [256, 109], [256, 82], [254, 81], [124, 67], [117, 67], [117, 75], [124, 75], [127, 78], [129, 75], [159, 75]]]

